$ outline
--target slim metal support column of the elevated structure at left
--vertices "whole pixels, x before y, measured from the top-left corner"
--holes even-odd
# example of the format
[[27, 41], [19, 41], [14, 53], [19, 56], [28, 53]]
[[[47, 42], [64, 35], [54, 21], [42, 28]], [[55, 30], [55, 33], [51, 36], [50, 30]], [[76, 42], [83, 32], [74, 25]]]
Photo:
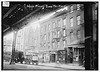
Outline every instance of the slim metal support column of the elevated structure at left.
[[13, 29], [13, 43], [12, 43], [12, 55], [11, 55], [11, 61], [10, 64], [15, 64], [15, 46], [16, 46], [16, 37], [17, 37], [17, 30]]

